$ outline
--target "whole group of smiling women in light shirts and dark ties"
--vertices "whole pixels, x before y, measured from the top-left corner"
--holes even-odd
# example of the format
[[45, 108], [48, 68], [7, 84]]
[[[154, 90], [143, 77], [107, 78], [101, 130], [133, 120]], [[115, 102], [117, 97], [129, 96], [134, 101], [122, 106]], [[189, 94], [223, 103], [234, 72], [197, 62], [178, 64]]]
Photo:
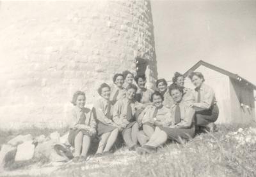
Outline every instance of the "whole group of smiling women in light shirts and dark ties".
[[84, 92], [75, 92], [68, 136], [75, 148], [74, 162], [86, 160], [95, 136], [100, 138], [95, 157], [100, 157], [111, 153], [119, 133], [129, 150], [144, 154], [156, 152], [168, 139], [180, 143], [200, 129], [214, 131], [218, 118], [214, 91], [205, 85], [202, 73], [191, 73], [189, 78], [195, 90], [185, 88], [184, 76], [175, 73], [172, 85], [159, 79], [152, 91], [145, 87], [144, 74], [134, 77], [124, 71], [115, 74], [113, 87], [100, 85], [100, 98], [92, 110], [84, 108]]

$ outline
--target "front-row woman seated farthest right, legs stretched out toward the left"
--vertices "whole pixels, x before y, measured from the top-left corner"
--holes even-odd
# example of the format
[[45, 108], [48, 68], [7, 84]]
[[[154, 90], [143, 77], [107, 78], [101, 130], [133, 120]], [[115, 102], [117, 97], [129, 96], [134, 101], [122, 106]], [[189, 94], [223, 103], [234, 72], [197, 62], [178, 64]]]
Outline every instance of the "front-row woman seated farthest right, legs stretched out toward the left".
[[182, 101], [183, 90], [177, 85], [170, 87], [172, 98], [175, 101], [171, 108], [172, 125], [157, 126], [148, 143], [137, 148], [138, 153], [156, 152], [156, 148], [166, 143], [168, 139], [181, 142], [184, 139], [195, 137], [194, 116], [195, 110]]

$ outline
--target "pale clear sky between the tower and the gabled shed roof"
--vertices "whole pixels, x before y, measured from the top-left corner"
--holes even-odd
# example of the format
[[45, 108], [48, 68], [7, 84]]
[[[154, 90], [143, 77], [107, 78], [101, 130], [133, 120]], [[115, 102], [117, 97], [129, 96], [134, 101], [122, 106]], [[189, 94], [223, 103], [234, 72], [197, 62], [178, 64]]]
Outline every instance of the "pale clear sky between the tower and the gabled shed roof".
[[158, 78], [204, 60], [256, 85], [256, 1], [151, 1]]

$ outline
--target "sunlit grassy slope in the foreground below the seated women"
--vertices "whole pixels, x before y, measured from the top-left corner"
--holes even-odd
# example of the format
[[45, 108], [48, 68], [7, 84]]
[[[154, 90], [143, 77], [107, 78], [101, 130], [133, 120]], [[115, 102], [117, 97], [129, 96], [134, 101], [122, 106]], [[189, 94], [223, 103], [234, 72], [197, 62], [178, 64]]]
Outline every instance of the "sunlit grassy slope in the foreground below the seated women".
[[240, 127], [246, 129], [248, 125], [222, 125], [218, 132], [200, 134], [183, 145], [168, 144], [150, 155], [121, 148], [108, 157], [62, 164], [51, 174], [39, 176], [256, 176], [256, 144], [240, 145], [227, 136]]

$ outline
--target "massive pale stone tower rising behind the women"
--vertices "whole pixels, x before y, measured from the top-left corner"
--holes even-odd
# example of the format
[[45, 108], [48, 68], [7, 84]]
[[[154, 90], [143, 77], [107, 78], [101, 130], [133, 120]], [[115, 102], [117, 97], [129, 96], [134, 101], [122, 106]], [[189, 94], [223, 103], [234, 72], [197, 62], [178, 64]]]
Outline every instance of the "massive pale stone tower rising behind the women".
[[93, 103], [115, 73], [157, 78], [150, 2], [1, 1], [0, 128], [65, 125], [76, 90]]

